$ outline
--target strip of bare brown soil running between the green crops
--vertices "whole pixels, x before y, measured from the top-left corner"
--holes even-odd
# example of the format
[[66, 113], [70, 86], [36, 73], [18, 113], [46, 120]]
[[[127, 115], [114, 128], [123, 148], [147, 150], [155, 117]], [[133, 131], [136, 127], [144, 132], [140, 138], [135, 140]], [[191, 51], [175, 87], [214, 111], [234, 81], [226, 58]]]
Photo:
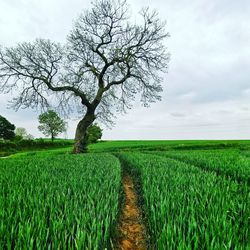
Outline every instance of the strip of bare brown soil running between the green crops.
[[125, 201], [118, 224], [120, 250], [146, 250], [146, 228], [142, 220], [142, 211], [138, 206], [138, 197], [131, 176], [123, 176]]

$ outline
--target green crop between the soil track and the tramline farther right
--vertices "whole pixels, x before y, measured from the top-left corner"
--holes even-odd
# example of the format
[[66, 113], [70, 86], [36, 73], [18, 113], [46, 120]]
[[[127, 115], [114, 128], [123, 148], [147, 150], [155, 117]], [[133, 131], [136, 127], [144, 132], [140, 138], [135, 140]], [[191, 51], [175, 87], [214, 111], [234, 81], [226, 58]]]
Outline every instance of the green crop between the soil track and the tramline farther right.
[[120, 158], [141, 175], [144, 209], [155, 249], [249, 249], [246, 183], [152, 154]]

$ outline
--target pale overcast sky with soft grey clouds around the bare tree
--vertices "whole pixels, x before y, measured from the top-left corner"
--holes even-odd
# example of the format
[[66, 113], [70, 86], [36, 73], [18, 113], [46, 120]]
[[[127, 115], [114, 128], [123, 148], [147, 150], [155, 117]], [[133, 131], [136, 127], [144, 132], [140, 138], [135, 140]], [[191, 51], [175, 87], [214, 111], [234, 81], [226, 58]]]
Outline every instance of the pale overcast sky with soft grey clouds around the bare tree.
[[[35, 38], [65, 42], [73, 20], [90, 0], [0, 0], [0, 44]], [[250, 139], [250, 1], [128, 0], [133, 14], [156, 9], [171, 37], [162, 101], [136, 105], [116, 119], [104, 139]], [[39, 113], [7, 109], [0, 115], [42, 137]], [[73, 138], [77, 120], [69, 120]]]

